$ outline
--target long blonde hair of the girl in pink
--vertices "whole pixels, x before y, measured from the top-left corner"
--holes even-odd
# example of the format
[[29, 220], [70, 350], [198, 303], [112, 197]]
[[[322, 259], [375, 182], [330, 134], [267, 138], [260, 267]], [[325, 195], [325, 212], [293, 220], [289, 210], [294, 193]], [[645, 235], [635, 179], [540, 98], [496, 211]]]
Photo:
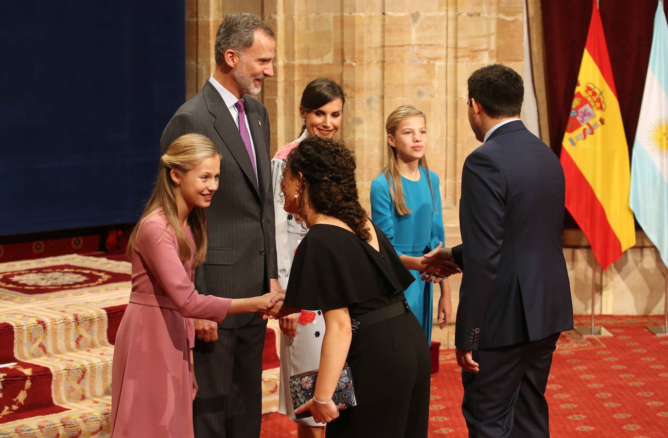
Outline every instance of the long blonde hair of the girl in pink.
[[[186, 134], [174, 140], [167, 152], [160, 157], [160, 169], [158, 169], [156, 187], [144, 208], [142, 217], [137, 222], [134, 230], [132, 230], [132, 234], [130, 234], [130, 239], [128, 240], [128, 257], [132, 258], [134, 241], [137, 234], [142, 230], [144, 219], [156, 214], [157, 210], [162, 208], [167, 218], [167, 225], [162, 232], [162, 236], [164, 236], [164, 232], [168, 226], [172, 227], [178, 241], [178, 258], [181, 262], [185, 263], [190, 260], [192, 251], [195, 252], [195, 266], [204, 262], [204, 257], [206, 256], [206, 232], [208, 231], [204, 209], [194, 207], [190, 215], [188, 215], [188, 225], [190, 225], [190, 230], [192, 230], [192, 236], [195, 241], [195, 248], [191, 248], [186, 235], [178, 223], [176, 198], [174, 196], [176, 184], [170, 176], [170, 170], [174, 170], [174, 172], [183, 176], [188, 170], [200, 164], [202, 160], [216, 156], [218, 159], [222, 158], [216, 145], [208, 137], [201, 134]], [[160, 239], [162, 239], [162, 236], [160, 236]]]

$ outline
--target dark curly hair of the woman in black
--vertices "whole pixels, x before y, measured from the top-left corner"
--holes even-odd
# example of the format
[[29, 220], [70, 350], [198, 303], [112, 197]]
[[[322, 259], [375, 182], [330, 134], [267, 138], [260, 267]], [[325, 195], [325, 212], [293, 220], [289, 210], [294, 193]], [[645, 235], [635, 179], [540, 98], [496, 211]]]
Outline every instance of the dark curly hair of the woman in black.
[[[342, 220], [359, 238], [369, 242], [367, 212], [357, 195], [356, 167], [353, 151], [343, 142], [318, 136], [303, 140], [285, 160], [285, 168], [291, 174], [301, 172], [301, 187], [308, 188], [315, 212]], [[304, 196], [299, 196], [299, 210], [303, 204]]]

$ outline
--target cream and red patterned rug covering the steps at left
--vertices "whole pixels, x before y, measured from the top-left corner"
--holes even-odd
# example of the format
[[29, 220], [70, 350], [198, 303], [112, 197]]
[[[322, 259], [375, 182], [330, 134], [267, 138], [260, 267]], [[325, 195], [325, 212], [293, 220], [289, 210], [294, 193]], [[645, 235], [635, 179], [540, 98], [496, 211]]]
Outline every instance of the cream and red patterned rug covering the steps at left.
[[[70, 254], [0, 263], [0, 438], [108, 437], [111, 369], [130, 263]], [[263, 413], [278, 410], [278, 322]]]

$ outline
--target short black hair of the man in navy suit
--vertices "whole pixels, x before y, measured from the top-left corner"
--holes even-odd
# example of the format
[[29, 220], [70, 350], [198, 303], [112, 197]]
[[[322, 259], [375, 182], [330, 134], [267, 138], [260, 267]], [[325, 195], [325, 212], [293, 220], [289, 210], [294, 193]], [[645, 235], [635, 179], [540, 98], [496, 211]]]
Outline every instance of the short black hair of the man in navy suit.
[[524, 101], [524, 81], [507, 65], [486, 65], [468, 77], [468, 98], [476, 99], [493, 119], [519, 116]]

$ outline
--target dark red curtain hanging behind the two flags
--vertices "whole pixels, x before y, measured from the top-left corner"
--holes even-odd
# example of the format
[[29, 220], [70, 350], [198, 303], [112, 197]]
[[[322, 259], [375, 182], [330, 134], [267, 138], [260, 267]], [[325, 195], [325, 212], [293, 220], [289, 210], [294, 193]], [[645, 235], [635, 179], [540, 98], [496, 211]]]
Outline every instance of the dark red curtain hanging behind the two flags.
[[[556, 154], [561, 151], [592, 5], [589, 0], [541, 0], [550, 146]], [[629, 149], [643, 99], [656, 9], [657, 0], [599, 1]]]

